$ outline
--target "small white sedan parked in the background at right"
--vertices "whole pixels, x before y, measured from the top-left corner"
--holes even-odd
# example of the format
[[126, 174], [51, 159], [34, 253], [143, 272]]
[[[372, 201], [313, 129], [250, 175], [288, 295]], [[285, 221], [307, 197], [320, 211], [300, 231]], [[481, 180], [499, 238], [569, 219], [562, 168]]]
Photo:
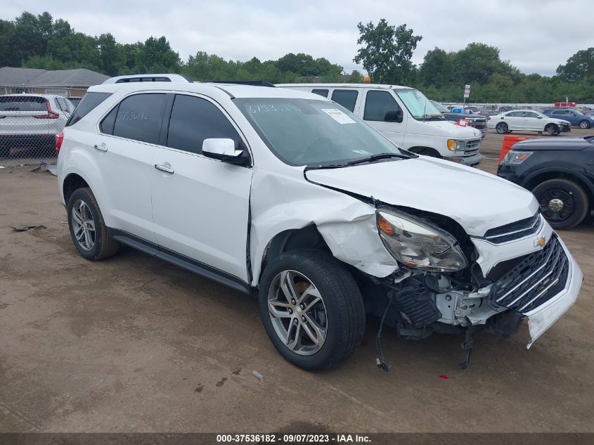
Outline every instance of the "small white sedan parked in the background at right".
[[555, 136], [572, 129], [572, 124], [566, 120], [548, 117], [534, 110], [512, 110], [489, 116], [487, 119], [487, 128], [495, 129], [499, 134], [519, 130], [545, 132]]

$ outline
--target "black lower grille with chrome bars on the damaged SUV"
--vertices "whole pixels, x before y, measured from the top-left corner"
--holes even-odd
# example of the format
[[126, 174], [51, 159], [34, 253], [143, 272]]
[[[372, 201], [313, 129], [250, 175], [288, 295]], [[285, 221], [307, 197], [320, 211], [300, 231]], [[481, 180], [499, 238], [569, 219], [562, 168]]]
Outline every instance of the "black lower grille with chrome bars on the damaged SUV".
[[568, 276], [569, 258], [553, 234], [542, 250], [529, 254], [496, 281], [489, 298], [495, 307], [508, 307], [524, 315], [561, 292]]

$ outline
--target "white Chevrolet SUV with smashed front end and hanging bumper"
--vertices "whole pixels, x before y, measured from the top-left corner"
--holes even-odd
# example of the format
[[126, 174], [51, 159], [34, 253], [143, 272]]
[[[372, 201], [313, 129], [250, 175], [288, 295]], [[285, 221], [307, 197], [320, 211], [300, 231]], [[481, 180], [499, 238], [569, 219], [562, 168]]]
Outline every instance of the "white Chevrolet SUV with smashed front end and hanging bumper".
[[534, 341], [581, 286], [531, 193], [401, 150], [315, 94], [93, 86], [58, 146], [84, 258], [126, 244], [257, 293], [274, 346], [308, 370], [347, 358], [366, 313], [408, 338], [467, 340], [528, 318]]

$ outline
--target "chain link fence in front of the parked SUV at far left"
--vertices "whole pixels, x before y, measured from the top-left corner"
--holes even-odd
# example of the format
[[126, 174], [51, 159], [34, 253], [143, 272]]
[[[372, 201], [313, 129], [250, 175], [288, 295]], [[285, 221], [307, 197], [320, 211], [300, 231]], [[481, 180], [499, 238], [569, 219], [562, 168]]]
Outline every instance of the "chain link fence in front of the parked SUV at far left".
[[0, 166], [56, 164], [56, 134], [85, 92], [0, 86]]

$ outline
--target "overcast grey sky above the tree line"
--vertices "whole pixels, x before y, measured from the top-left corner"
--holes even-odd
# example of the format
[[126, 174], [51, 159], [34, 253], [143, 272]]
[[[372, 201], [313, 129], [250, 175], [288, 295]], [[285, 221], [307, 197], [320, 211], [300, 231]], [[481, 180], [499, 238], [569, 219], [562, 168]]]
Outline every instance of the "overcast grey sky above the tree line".
[[49, 11], [79, 32], [110, 32], [120, 43], [164, 35], [182, 60], [197, 51], [233, 60], [303, 52], [349, 72], [359, 68], [357, 23], [380, 18], [422, 35], [417, 64], [435, 46], [457, 51], [477, 41], [497, 46], [527, 74], [553, 75], [576, 51], [594, 46], [594, 0], [5, 0], [0, 16], [13, 20], [22, 11]]

